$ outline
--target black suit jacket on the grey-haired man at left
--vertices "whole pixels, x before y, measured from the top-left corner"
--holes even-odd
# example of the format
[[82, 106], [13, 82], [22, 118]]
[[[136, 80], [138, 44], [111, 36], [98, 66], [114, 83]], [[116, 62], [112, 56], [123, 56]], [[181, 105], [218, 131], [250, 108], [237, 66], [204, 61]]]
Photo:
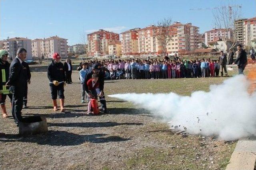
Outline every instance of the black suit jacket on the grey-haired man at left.
[[15, 57], [10, 65], [10, 76], [8, 84], [10, 85], [10, 92], [16, 95], [22, 95], [26, 87], [27, 79], [24, 74], [23, 66]]

